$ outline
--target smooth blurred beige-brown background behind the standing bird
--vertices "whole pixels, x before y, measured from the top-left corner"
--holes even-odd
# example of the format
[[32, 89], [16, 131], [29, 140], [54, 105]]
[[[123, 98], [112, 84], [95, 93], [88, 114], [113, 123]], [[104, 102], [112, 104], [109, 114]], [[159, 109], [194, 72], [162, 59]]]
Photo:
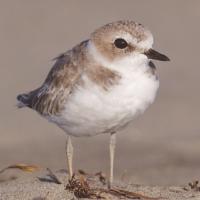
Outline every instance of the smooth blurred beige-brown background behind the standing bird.
[[[153, 185], [200, 179], [199, 0], [1, 0], [0, 168], [66, 167], [64, 132], [36, 112], [17, 109], [16, 96], [43, 82], [53, 57], [120, 19], [147, 26], [154, 48], [171, 62], [154, 62], [157, 99], [118, 134], [115, 177]], [[108, 139], [75, 138], [75, 169], [108, 173]]]

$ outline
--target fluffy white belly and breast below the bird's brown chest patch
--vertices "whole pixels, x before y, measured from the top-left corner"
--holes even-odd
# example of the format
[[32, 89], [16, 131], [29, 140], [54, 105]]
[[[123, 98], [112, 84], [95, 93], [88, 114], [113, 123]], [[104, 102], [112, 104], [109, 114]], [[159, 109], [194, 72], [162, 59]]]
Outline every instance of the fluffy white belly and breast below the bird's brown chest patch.
[[119, 130], [154, 101], [159, 81], [144, 72], [126, 73], [109, 91], [85, 78], [68, 99], [57, 123], [67, 134], [92, 136]]

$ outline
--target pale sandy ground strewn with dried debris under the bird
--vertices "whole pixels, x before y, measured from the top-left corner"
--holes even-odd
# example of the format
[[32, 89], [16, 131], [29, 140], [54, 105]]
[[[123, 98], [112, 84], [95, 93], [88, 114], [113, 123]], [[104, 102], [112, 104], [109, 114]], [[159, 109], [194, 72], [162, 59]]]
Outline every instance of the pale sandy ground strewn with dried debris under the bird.
[[[53, 182], [48, 173], [40, 172], [31, 175], [24, 175], [18, 177], [15, 180], [0, 182], [0, 200], [70, 200], [70, 199], [80, 199], [80, 195], [88, 193], [76, 193], [74, 190], [66, 189], [68, 183], [68, 177], [65, 172], [56, 172], [54, 175], [59, 179], [61, 184], [56, 184]], [[77, 177], [77, 180], [79, 178]], [[110, 192], [98, 192], [100, 190], [106, 190], [107, 188], [99, 181], [98, 177], [95, 176], [85, 176], [85, 180], [89, 184], [89, 187], [95, 188], [94, 194], [97, 194], [99, 198], [117, 200], [121, 198], [131, 199], [129, 197], [123, 197], [122, 193], [115, 195]], [[98, 188], [98, 189], [97, 189]], [[187, 186], [145, 186], [145, 185], [136, 185], [132, 183], [124, 183], [122, 181], [115, 182], [113, 185], [115, 191], [119, 189], [129, 192], [134, 192], [134, 198], [140, 200], [199, 200], [200, 191], [195, 191]], [[81, 191], [79, 189], [79, 191]], [[88, 189], [86, 191], [89, 191]], [[133, 195], [133, 194], [132, 194]], [[83, 196], [82, 196], [83, 197]], [[84, 199], [97, 199], [94, 195], [92, 197]]]

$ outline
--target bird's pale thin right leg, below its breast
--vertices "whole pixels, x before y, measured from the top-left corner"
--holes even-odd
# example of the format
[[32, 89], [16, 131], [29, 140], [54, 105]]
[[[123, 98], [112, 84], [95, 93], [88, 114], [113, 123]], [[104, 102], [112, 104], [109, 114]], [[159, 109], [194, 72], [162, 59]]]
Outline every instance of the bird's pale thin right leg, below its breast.
[[111, 133], [110, 135], [110, 177], [109, 177], [109, 182], [108, 182], [109, 189], [112, 187], [112, 183], [113, 183], [115, 146], [116, 146], [116, 133]]

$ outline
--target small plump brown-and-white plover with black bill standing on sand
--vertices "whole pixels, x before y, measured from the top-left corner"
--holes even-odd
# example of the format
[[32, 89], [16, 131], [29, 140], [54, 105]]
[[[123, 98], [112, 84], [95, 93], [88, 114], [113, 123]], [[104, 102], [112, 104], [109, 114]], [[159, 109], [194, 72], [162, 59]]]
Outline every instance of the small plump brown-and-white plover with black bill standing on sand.
[[132, 20], [103, 25], [54, 59], [45, 81], [17, 96], [67, 134], [66, 154], [72, 178], [72, 137], [110, 134], [108, 188], [113, 185], [116, 134], [155, 100], [159, 79], [152, 60], [170, 59], [152, 48], [148, 28]]

